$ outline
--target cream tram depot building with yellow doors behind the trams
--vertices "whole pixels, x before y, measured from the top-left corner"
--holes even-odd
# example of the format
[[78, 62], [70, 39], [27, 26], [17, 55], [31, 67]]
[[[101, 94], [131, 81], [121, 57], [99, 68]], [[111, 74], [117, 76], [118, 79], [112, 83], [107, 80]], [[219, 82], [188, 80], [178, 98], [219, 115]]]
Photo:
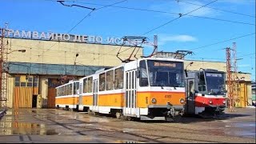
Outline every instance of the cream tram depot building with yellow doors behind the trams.
[[[98, 38], [100, 39], [100, 38]], [[100, 39], [102, 40], [102, 39]], [[30, 38], [5, 38], [8, 41], [9, 108], [54, 108], [55, 87], [69, 78], [82, 78], [104, 67], [118, 66], [120, 45], [113, 43], [65, 42]], [[19, 53], [15, 50], [26, 50]], [[128, 58], [134, 49], [122, 46], [119, 56]], [[137, 58], [143, 55], [138, 49]], [[191, 66], [190, 62], [194, 62]], [[185, 61], [187, 70], [214, 69], [226, 72], [226, 62]], [[252, 103], [250, 74], [238, 73], [240, 106]]]

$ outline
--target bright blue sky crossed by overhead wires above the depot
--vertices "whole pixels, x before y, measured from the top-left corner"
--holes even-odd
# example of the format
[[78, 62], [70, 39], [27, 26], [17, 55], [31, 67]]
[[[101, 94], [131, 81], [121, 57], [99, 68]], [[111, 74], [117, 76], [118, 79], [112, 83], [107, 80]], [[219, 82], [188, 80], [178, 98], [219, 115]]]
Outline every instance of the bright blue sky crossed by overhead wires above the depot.
[[[186, 14], [213, 1], [70, 0], [65, 4], [96, 8], [70, 34], [122, 38], [125, 35], [145, 34], [178, 18], [178, 14]], [[116, 7], [109, 6], [97, 10], [102, 7], [100, 5], [116, 2], [120, 2], [114, 5]], [[54, 0], [1, 0], [0, 6], [3, 8], [0, 11], [0, 26], [8, 22], [9, 28], [13, 30], [53, 31], [62, 34], [66, 34], [90, 13], [90, 10], [77, 6], [62, 6]], [[218, 0], [208, 6], [211, 8], [203, 7], [190, 13], [193, 16], [183, 16], [143, 36], [153, 42], [154, 34], [157, 34], [158, 50], [192, 50], [194, 55], [186, 58], [201, 61], [225, 62], [224, 48], [232, 47], [233, 42], [236, 42], [238, 58], [243, 58], [238, 61], [238, 70], [251, 73], [252, 79], [255, 80], [255, 0]], [[247, 34], [251, 35], [238, 38]], [[232, 38], [237, 39], [223, 42]], [[218, 44], [211, 45], [214, 43]], [[145, 46], [144, 52], [150, 54], [152, 50], [153, 46]]]

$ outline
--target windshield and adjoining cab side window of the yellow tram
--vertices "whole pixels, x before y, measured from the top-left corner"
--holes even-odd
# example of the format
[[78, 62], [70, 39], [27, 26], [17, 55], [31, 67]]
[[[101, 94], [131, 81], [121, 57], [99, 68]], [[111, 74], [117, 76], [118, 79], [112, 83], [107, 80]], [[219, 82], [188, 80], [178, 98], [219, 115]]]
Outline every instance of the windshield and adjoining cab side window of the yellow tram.
[[[147, 61], [147, 71], [143, 61], [140, 65], [140, 86], [184, 87], [183, 63], [169, 61]], [[149, 77], [147, 76], [147, 72]], [[149, 82], [148, 79], [149, 78]]]

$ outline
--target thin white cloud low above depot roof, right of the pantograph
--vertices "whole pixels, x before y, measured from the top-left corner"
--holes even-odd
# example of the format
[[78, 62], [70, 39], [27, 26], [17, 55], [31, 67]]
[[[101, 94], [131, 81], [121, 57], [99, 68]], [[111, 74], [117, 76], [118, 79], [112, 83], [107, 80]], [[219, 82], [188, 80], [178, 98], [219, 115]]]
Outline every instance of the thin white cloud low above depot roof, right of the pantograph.
[[181, 35], [166, 35], [159, 34], [158, 36], [158, 45], [164, 45], [167, 42], [196, 42], [198, 38], [195, 38], [190, 35], [181, 34]]

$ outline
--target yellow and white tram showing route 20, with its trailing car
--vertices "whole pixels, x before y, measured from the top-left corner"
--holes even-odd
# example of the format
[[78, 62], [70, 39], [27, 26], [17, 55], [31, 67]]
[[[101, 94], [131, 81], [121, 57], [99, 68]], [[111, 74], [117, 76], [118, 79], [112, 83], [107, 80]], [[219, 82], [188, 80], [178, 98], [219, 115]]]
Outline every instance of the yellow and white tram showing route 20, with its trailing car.
[[65, 101], [68, 96], [60, 94], [66, 89], [58, 86], [56, 106], [77, 105], [78, 110], [115, 114], [117, 118], [166, 120], [183, 114], [184, 82], [183, 60], [142, 58], [81, 78], [74, 101]]

